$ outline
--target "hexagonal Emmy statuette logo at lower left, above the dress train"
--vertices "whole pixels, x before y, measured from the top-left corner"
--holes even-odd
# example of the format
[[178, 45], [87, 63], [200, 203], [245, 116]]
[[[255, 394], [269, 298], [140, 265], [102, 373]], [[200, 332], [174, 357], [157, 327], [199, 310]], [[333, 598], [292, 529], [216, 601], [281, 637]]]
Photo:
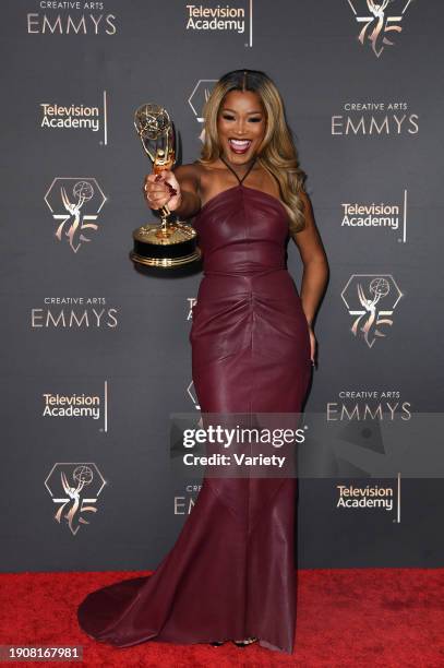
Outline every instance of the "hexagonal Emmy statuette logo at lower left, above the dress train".
[[68, 526], [73, 536], [89, 524], [88, 513], [96, 513], [106, 480], [96, 464], [84, 462], [57, 463], [45, 480], [45, 487], [58, 505], [55, 520]]

